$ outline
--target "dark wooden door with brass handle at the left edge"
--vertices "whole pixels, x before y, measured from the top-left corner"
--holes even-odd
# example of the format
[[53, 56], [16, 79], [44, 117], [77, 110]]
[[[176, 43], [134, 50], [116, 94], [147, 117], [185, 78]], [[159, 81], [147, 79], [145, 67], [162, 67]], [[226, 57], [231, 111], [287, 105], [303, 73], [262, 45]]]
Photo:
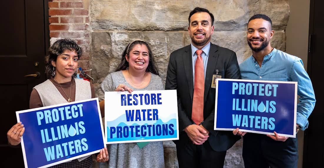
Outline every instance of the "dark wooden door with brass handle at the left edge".
[[9, 147], [6, 133], [17, 123], [15, 111], [29, 109], [32, 88], [46, 79], [48, 1], [3, 0], [0, 7], [0, 167], [24, 167], [21, 147]]

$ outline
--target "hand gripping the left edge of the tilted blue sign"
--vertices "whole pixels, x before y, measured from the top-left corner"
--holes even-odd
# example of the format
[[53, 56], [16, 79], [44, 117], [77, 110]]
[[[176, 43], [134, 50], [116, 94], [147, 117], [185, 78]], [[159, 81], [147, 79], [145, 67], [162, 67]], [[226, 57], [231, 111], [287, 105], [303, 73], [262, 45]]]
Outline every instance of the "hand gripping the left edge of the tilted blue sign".
[[7, 138], [8, 142], [11, 145], [18, 145], [21, 141], [22, 134], [25, 131], [24, 124], [21, 124], [21, 122], [18, 122], [14, 126], [10, 128], [10, 130], [7, 132]]

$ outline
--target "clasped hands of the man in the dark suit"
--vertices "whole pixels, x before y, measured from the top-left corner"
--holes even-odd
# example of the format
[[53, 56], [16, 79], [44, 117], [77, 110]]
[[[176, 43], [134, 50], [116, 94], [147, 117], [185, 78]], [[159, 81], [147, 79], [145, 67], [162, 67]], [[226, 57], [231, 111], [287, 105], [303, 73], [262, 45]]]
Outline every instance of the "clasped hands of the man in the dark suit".
[[203, 125], [191, 124], [187, 126], [184, 131], [187, 133], [192, 143], [196, 145], [202, 145], [209, 137], [209, 131], [206, 130]]

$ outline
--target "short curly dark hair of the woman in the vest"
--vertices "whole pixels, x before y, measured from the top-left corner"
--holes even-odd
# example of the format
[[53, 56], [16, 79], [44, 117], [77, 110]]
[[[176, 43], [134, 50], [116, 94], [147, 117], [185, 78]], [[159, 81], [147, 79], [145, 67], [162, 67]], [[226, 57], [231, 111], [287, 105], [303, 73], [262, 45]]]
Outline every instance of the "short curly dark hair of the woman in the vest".
[[45, 58], [45, 73], [48, 77], [53, 78], [55, 74], [55, 68], [52, 65], [52, 61], [56, 62], [57, 56], [61, 55], [65, 50], [75, 51], [78, 55], [78, 58], [81, 57], [83, 52], [82, 48], [78, 44], [76, 44], [75, 41], [69, 38], [59, 39], [55, 41], [53, 45], [48, 49], [49, 54]]

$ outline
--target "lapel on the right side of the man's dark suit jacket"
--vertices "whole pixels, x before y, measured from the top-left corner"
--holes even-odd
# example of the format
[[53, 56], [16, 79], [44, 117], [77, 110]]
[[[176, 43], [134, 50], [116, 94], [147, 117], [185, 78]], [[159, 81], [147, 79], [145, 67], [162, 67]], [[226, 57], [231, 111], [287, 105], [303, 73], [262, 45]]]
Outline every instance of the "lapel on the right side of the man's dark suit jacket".
[[207, 68], [206, 68], [205, 90], [204, 90], [204, 97], [203, 97], [204, 102], [206, 101], [208, 91], [211, 88], [214, 69], [216, 67], [216, 63], [217, 63], [217, 59], [218, 59], [217, 51], [218, 51], [218, 47], [214, 44], [211, 44], [210, 50], [209, 50]]

